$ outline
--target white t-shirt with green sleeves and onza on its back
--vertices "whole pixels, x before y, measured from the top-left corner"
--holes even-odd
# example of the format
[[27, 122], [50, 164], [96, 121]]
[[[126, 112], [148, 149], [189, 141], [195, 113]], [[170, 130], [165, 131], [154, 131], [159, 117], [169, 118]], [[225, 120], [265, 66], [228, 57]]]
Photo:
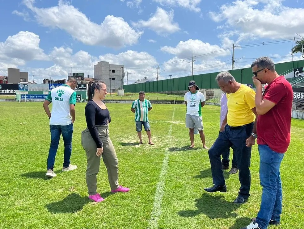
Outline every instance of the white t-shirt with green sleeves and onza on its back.
[[46, 100], [53, 102], [50, 125], [66, 126], [72, 123], [70, 104], [76, 105], [76, 92], [70, 86], [63, 84], [53, 88]]

